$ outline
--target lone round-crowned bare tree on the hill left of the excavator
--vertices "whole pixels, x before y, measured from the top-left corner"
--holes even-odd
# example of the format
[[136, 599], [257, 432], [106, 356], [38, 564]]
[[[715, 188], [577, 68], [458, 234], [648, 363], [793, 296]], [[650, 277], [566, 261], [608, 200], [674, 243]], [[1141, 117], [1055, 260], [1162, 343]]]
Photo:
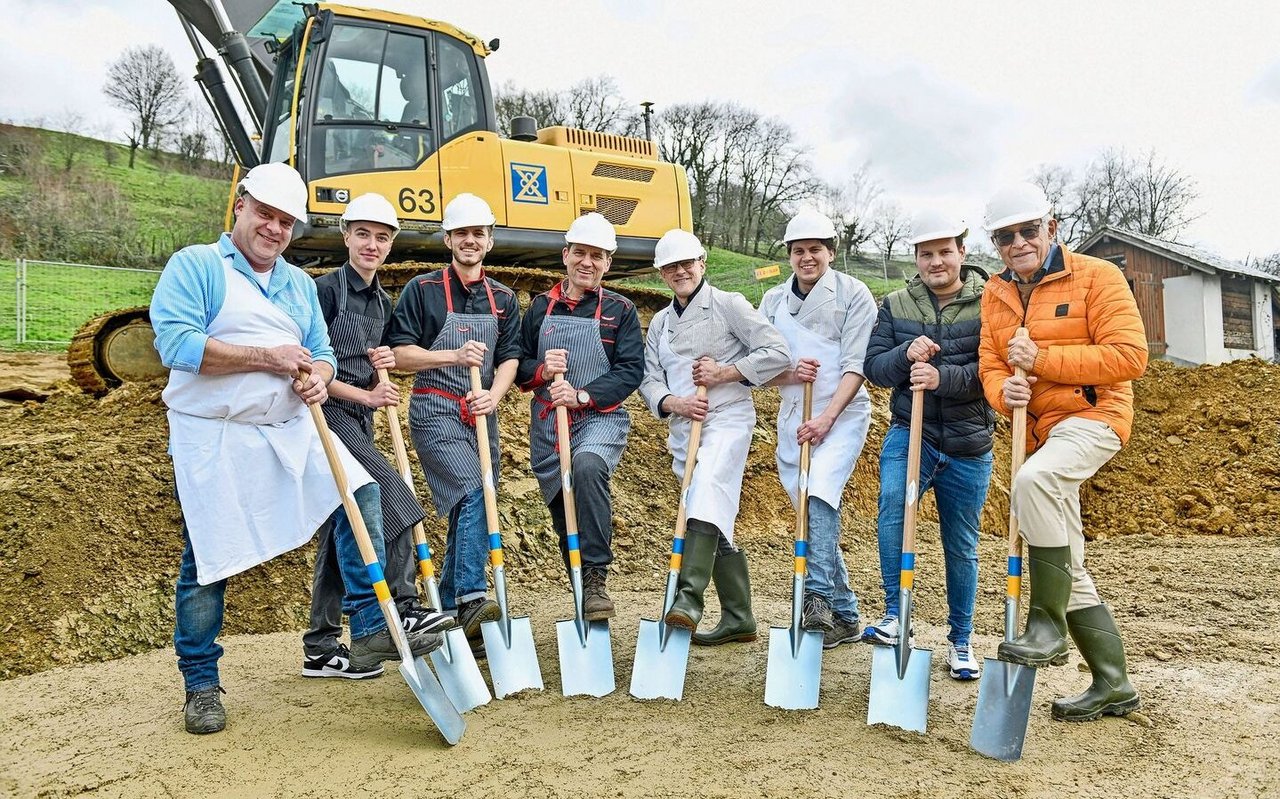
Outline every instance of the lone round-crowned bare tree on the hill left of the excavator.
[[131, 114], [129, 166], [137, 149], [151, 147], [182, 117], [187, 92], [169, 54], [159, 45], [129, 47], [106, 72], [102, 93]]

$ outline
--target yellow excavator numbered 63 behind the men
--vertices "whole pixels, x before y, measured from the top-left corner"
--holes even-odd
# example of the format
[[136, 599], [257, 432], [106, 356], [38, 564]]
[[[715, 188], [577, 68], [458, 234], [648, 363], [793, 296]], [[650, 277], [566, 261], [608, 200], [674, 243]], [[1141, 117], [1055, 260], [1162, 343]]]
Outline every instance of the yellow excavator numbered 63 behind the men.
[[[493, 209], [498, 224], [486, 261], [506, 268], [489, 271], [525, 298], [558, 279], [539, 268], [558, 266], [564, 230], [582, 214], [598, 211], [618, 230], [611, 277], [652, 265], [664, 232], [691, 229], [685, 170], [662, 161], [649, 140], [539, 129], [529, 117], [509, 120], [509, 138], [499, 136], [485, 69], [498, 40], [332, 3], [169, 4], [196, 52], [196, 81], [230, 142], [237, 175], [268, 161], [302, 174], [307, 216], [285, 257], [316, 274], [342, 264], [338, 219], [351, 198], [371, 191], [402, 218], [397, 262], [380, 273], [392, 291], [448, 260], [440, 220], [462, 192]], [[204, 42], [221, 56], [225, 74]], [[645, 319], [668, 301], [660, 292], [625, 291]], [[164, 374], [152, 338], [146, 309], [92, 319], [68, 350], [72, 375], [102, 393]]]

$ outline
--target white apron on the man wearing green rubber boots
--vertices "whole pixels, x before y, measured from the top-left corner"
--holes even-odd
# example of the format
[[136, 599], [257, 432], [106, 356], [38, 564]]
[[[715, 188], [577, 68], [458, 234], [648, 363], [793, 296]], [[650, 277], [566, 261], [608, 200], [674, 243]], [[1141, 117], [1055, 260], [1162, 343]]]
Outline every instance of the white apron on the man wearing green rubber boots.
[[[669, 324], [658, 338], [658, 360], [667, 373], [667, 388], [671, 393], [687, 397], [698, 391], [694, 385], [694, 359], [671, 348]], [[755, 403], [749, 387], [726, 383], [707, 391], [707, 406], [685, 516], [716, 525], [732, 542], [733, 522], [737, 520], [739, 499], [742, 496], [742, 474], [751, 449], [751, 432], [755, 429]], [[667, 449], [672, 456], [671, 469], [682, 480], [694, 423], [676, 414], [672, 414], [669, 423]]]

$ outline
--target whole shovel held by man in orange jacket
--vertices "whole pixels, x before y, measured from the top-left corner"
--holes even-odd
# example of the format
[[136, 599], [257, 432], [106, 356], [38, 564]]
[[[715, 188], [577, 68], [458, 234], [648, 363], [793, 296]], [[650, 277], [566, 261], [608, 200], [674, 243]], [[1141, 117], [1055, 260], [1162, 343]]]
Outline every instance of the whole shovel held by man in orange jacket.
[[[1015, 335], [1027, 335], [1027, 328], [1018, 328]], [[1014, 369], [1025, 378], [1027, 373]], [[1027, 457], [1027, 407], [1014, 408], [1012, 461], [1009, 467], [1009, 487], [1012, 494], [1014, 478]], [[1023, 593], [1023, 542], [1018, 538], [1018, 517], [1012, 503], [1009, 506], [1009, 576], [1005, 579], [1005, 640], [1018, 635], [1019, 602]], [[1023, 740], [1032, 714], [1032, 691], [1036, 688], [1036, 670], [1021, 663], [1007, 663], [996, 658], [983, 658], [982, 681], [978, 684], [978, 709], [973, 716], [969, 745], [974, 752], [997, 761], [1016, 761], [1023, 757]]]

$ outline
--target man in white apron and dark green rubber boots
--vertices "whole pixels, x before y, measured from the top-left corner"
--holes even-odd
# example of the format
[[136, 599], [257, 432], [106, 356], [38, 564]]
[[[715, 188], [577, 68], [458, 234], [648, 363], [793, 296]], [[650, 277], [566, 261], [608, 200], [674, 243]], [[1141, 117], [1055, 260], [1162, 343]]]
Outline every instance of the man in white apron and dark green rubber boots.
[[[714, 577], [721, 621], [704, 645], [755, 640], [746, 553], [733, 545], [733, 522], [742, 472], [755, 429], [751, 387], [763, 385], [791, 365], [786, 341], [742, 295], [723, 292], [707, 279], [707, 251], [686, 230], [668, 230], [654, 250], [654, 268], [676, 295], [654, 314], [645, 338], [640, 393], [658, 419], [668, 420], [671, 467], [684, 478], [696, 458], [685, 504], [687, 535], [676, 598], [666, 622], [696, 630], [703, 593]], [[696, 396], [707, 387], [707, 397]], [[698, 452], [689, 452], [692, 423], [703, 423]]]

